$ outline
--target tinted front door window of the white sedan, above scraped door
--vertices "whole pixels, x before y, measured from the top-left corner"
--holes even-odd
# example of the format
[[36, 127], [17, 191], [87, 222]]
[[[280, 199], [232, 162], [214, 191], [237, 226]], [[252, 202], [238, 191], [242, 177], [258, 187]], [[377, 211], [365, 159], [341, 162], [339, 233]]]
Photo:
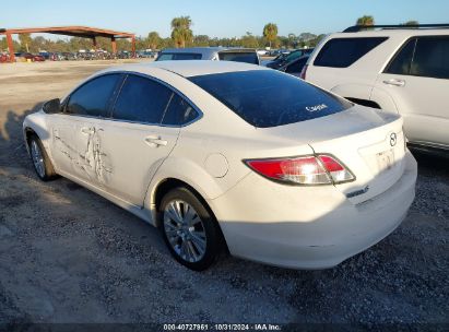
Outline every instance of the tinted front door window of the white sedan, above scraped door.
[[80, 116], [108, 117], [108, 107], [120, 74], [106, 74], [79, 87], [69, 97], [66, 112]]

